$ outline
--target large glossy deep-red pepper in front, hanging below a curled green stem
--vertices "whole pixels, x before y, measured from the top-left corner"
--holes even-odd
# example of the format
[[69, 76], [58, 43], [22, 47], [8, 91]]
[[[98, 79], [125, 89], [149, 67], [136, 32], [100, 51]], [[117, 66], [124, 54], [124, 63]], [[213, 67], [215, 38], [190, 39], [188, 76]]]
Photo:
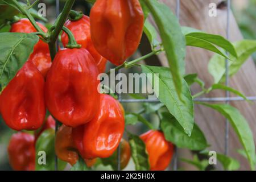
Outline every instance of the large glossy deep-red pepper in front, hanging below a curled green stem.
[[57, 52], [46, 78], [46, 105], [64, 125], [77, 127], [93, 119], [100, 104], [98, 69], [84, 48]]

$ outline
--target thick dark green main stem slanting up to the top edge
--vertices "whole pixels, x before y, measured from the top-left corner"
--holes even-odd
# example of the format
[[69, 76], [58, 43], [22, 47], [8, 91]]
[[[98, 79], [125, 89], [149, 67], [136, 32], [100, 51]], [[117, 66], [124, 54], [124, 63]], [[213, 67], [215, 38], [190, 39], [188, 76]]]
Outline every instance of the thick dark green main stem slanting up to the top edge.
[[64, 9], [61, 12], [60, 17], [57, 19], [56, 27], [49, 38], [51, 43], [56, 42], [56, 40], [60, 34], [60, 31], [62, 30], [62, 27], [68, 18], [69, 11], [72, 9], [74, 2], [75, 2], [75, 0], [67, 0], [66, 1]]

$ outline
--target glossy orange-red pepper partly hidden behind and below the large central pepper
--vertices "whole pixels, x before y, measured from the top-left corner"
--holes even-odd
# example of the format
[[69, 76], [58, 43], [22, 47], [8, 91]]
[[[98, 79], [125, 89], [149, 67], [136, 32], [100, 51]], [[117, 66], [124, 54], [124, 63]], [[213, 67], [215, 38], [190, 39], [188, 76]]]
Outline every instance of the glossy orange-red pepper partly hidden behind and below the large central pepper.
[[101, 94], [96, 117], [84, 126], [73, 129], [73, 139], [86, 159], [108, 158], [117, 149], [125, 129], [121, 104], [107, 94]]

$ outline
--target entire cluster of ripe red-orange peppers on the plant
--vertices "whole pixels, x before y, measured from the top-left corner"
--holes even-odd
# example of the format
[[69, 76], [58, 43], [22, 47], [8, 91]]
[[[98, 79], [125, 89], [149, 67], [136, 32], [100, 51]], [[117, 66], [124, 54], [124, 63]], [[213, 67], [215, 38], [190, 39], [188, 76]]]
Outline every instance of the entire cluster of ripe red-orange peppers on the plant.
[[[117, 150], [125, 129], [122, 105], [107, 94], [98, 93], [98, 74], [106, 61], [121, 65], [138, 48], [144, 15], [138, 0], [97, 0], [90, 17], [72, 11], [64, 26], [81, 48], [70, 45], [63, 32], [64, 49], [51, 62], [43, 40], [34, 47], [27, 62], [0, 96], [0, 111], [11, 129], [38, 130], [30, 135], [16, 133], [10, 140], [10, 164], [15, 170], [35, 169], [35, 142], [43, 130], [54, 127], [50, 118], [44, 123], [46, 109], [63, 123], [56, 133], [55, 152], [59, 159], [76, 164], [81, 156], [87, 166], [97, 158], [108, 158]], [[38, 23], [43, 31], [47, 28]], [[36, 32], [28, 19], [12, 24], [11, 32]], [[42, 127], [43, 126], [43, 127]], [[146, 144], [152, 170], [165, 169], [173, 146], [160, 131], [141, 135]], [[130, 146], [122, 140], [121, 166], [130, 159]]]

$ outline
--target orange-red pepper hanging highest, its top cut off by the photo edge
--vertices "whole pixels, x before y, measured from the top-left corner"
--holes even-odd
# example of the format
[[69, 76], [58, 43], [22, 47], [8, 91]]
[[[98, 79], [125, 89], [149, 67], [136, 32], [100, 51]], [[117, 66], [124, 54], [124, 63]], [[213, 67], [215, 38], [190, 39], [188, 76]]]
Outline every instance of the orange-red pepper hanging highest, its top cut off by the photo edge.
[[97, 0], [90, 11], [96, 50], [115, 65], [133, 55], [141, 41], [144, 15], [138, 0]]

